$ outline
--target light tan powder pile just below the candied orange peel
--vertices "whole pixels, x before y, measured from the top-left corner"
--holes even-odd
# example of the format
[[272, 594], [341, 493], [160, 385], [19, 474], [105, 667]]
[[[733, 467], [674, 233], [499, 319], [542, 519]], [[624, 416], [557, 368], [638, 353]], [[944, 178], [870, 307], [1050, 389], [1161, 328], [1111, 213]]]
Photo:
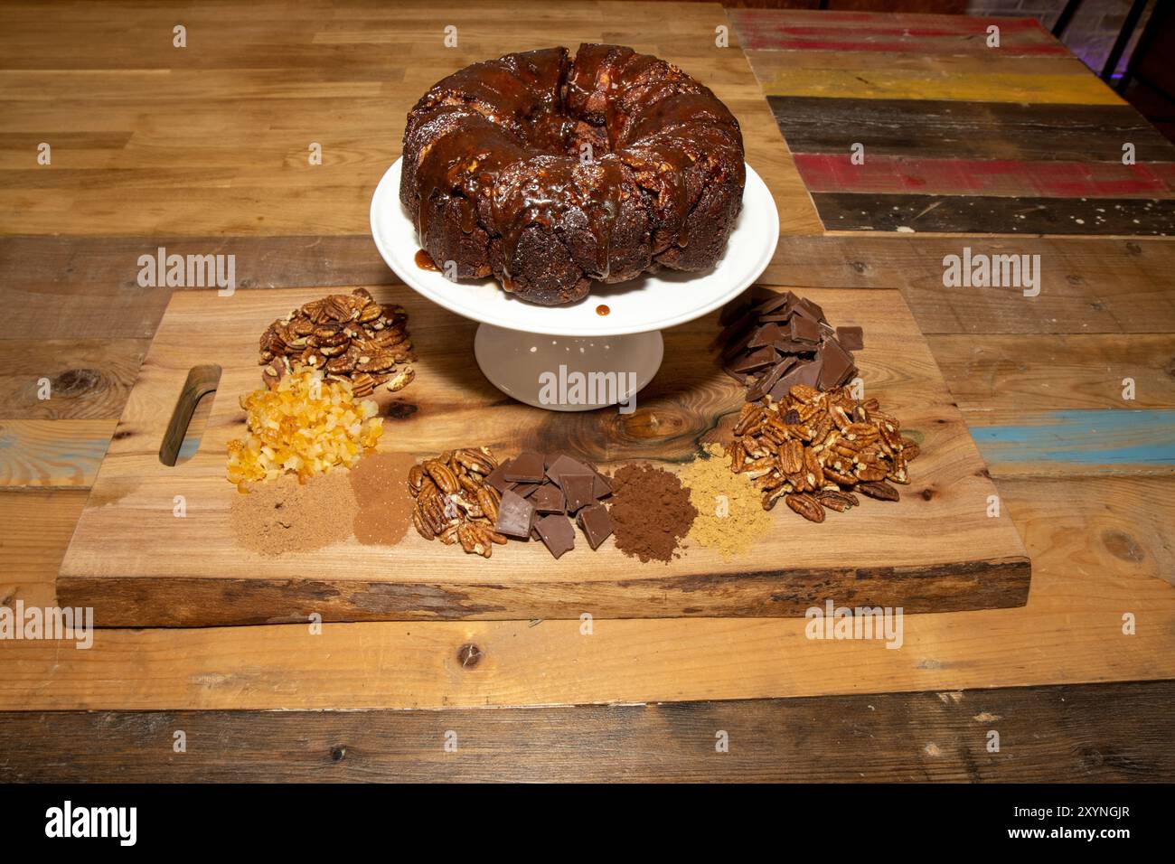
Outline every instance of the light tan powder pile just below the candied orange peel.
[[335, 469], [298, 483], [286, 475], [234, 495], [229, 521], [237, 542], [262, 555], [322, 549], [351, 536], [358, 503], [347, 471]]

